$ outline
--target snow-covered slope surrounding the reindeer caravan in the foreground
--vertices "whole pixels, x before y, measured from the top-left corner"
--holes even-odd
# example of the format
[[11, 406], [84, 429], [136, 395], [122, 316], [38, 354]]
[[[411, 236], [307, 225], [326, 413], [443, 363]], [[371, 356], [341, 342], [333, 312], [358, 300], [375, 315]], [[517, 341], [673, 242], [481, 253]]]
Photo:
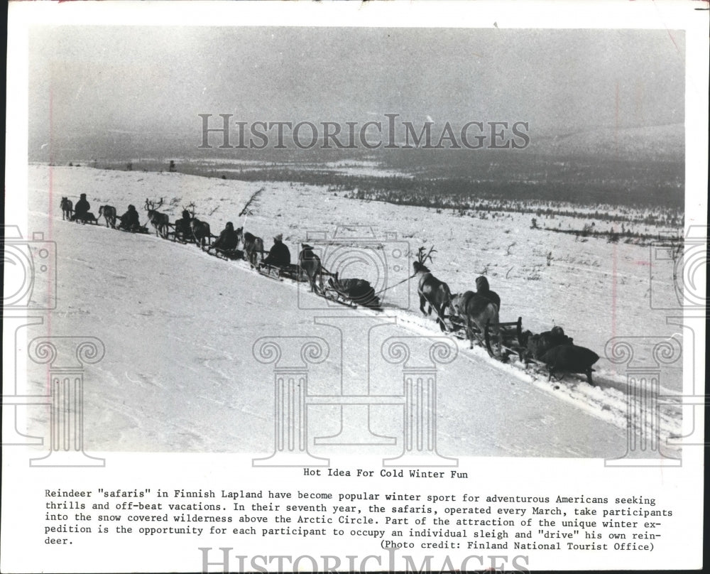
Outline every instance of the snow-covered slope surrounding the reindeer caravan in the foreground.
[[[257, 190], [262, 191], [251, 214], [239, 219]], [[457, 358], [439, 365], [442, 455], [621, 456], [626, 451], [626, 365], [605, 357], [608, 340], [652, 335], [682, 341], [680, 327], [667, 325], [665, 313], [650, 309], [651, 295], [674, 300], [675, 294], [670, 262], [660, 262], [659, 268], [654, 261], [649, 269], [648, 247], [533, 232], [523, 215], [463, 219], [422, 207], [349, 200], [312, 185], [31, 166], [29, 229], [57, 244], [58, 305], [48, 324], [31, 327], [29, 336], [92, 335], [107, 349], [102, 362], [87, 369], [87, 450], [268, 453], [273, 448], [273, 366], [254, 359], [258, 337], [328, 340], [332, 357], [313, 367], [314, 392], [336, 392], [343, 381], [360, 381], [373, 393], [394, 394], [401, 390], [401, 367], [372, 357], [363, 357], [361, 364], [344, 360], [334, 342], [337, 331], [322, 318], [360, 316], [361, 322], [347, 327], [344, 343], [370, 335], [377, 352], [388, 337], [439, 335], [439, 330], [418, 310], [415, 281], [386, 291], [383, 313], [324, 308], [307, 286], [270, 280], [244, 261], [223, 261], [155, 234], [63, 222], [61, 197], [76, 202], [80, 193], [87, 193], [94, 213], [104, 204], [122, 213], [133, 203], [142, 222], [146, 197], [163, 197], [160, 210], [171, 221], [183, 205], [194, 202], [197, 217], [211, 224], [213, 234], [232, 221], [263, 237], [268, 249], [270, 238], [283, 233], [293, 259], [305, 241], [333, 247], [352, 237], [357, 251], [356, 237], [371, 227], [384, 243], [397, 247], [397, 261], [386, 261], [386, 275], [381, 269], [373, 275], [373, 266], [364, 261], [367, 251], [361, 250], [364, 257], [351, 258], [346, 276], [367, 278], [378, 289], [410, 274], [406, 247], [415, 254], [422, 245], [435, 246], [432, 271], [454, 293], [475, 290], [476, 276], [485, 274], [501, 296], [501, 320], [521, 316], [523, 328], [532, 332], [561, 325], [577, 345], [601, 357], [596, 387], [575, 377], [548, 383], [547, 377], [496, 362], [459, 341]], [[336, 230], [339, 241], [334, 241]], [[385, 252], [391, 256], [392, 251]], [[650, 273], [655, 274], [652, 284]], [[383, 317], [394, 320], [370, 332]], [[650, 353], [650, 347], [645, 351]], [[367, 380], [359, 370], [366, 364]], [[44, 386], [43, 369], [28, 368], [31, 384]], [[661, 394], [679, 394], [681, 362], [663, 365], [661, 373]], [[395, 407], [372, 411], [373, 432], [401, 433]], [[40, 408], [32, 413], [29, 430], [42, 434], [48, 415]], [[310, 438], [338, 432], [339, 408], [312, 406], [309, 416]], [[660, 437], [680, 430], [680, 409], [662, 409]], [[312, 445], [311, 451], [320, 455], [329, 448]], [[362, 447], [364, 453], [373, 449], [397, 455], [400, 447]]]

